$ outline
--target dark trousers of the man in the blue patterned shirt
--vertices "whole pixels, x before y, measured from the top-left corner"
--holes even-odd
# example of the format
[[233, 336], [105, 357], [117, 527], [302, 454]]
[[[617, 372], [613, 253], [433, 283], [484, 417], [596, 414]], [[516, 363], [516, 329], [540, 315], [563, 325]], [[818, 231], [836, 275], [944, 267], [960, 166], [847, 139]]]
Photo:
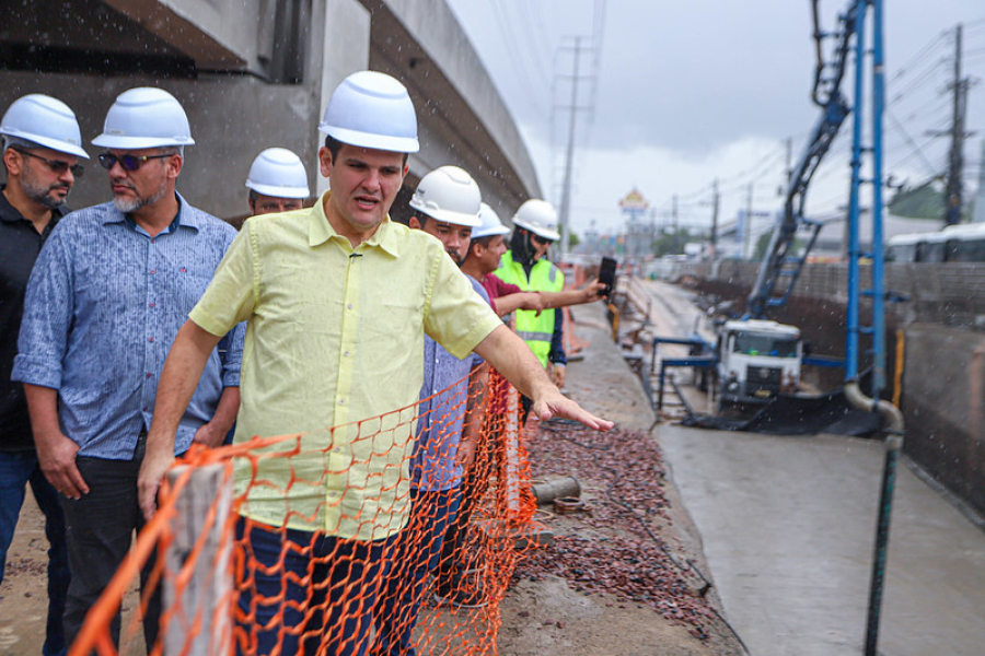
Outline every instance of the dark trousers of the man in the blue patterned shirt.
[[[65, 632], [69, 644], [76, 640], [85, 613], [109, 584], [130, 550], [134, 531], [143, 528], [143, 514], [137, 500], [137, 475], [143, 461], [144, 437], [137, 444], [131, 460], [76, 458], [76, 466], [89, 485], [89, 494], [78, 501], [61, 499], [68, 536], [69, 564], [72, 582], [69, 585], [65, 610]], [[140, 573], [140, 589], [147, 595], [147, 579], [153, 570], [154, 557]], [[143, 636], [148, 652], [158, 639], [161, 616], [161, 591], [148, 598], [143, 617]], [[114, 644], [119, 645], [119, 613], [109, 625]]]

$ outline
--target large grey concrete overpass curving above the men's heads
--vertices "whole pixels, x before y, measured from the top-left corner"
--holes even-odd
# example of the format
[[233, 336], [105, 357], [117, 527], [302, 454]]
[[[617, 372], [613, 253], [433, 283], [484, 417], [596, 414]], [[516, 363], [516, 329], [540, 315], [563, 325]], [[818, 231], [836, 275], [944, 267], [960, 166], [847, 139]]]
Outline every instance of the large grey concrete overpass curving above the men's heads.
[[[473, 174], [506, 219], [540, 185], [520, 133], [444, 0], [33, 0], [0, 26], [0, 106], [47, 93], [79, 116], [89, 141], [120, 92], [162, 86], [184, 105], [196, 145], [178, 190], [219, 216], [246, 211], [253, 157], [280, 145], [317, 175], [316, 132], [332, 91], [372, 68], [399, 79], [418, 113], [421, 151], [394, 204], [442, 164]], [[108, 200], [94, 161], [73, 208]]]

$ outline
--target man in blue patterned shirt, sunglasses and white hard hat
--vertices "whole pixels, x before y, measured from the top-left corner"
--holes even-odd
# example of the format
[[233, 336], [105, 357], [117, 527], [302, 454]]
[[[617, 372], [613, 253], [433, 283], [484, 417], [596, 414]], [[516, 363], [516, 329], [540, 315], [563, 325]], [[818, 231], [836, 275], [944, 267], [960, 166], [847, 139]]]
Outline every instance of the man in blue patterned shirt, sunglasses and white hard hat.
[[[178, 102], [160, 89], [124, 92], [103, 133], [113, 201], [67, 215], [27, 285], [12, 378], [24, 383], [38, 459], [63, 495], [69, 644], [143, 525], [138, 472], [167, 351], [235, 230], [175, 191], [194, 143]], [[222, 442], [239, 406], [241, 329], [208, 356], [175, 453]], [[153, 559], [151, 559], [153, 560]], [[150, 573], [151, 562], [142, 573]], [[144, 617], [157, 640], [160, 601]], [[119, 617], [112, 625], [119, 641]]]

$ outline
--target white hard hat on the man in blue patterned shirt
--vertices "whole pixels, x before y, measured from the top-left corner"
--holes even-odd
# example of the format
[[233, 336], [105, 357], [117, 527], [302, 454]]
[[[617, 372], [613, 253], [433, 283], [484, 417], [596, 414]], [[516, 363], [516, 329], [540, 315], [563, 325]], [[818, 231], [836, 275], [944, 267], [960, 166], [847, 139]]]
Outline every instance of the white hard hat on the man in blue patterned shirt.
[[103, 133], [92, 140], [103, 148], [141, 149], [192, 145], [188, 117], [163, 89], [138, 86], [125, 91], [106, 113]]

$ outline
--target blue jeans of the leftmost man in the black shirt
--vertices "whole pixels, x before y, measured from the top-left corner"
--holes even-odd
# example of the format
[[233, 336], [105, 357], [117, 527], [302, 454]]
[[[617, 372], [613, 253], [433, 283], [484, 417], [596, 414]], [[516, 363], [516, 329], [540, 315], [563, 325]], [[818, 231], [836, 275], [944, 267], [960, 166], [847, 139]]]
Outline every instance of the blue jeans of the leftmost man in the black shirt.
[[34, 500], [45, 516], [48, 538], [48, 623], [42, 653], [65, 654], [65, 630], [61, 616], [69, 587], [68, 549], [65, 541], [65, 516], [58, 505], [58, 491], [47, 481], [34, 452], [0, 452], [0, 585], [7, 565], [7, 551], [24, 503], [24, 490], [31, 484]]

